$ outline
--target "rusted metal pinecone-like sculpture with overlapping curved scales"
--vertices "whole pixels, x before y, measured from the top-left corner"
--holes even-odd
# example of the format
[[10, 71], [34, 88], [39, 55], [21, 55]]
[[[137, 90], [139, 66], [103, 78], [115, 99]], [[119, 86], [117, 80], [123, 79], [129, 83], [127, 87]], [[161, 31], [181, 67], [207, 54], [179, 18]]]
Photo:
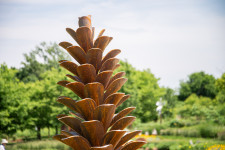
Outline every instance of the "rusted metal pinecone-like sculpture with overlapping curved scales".
[[136, 150], [145, 144], [144, 141], [129, 141], [141, 131], [128, 132], [123, 129], [130, 125], [135, 117], [126, 116], [134, 107], [128, 107], [115, 114], [116, 108], [129, 98], [129, 95], [118, 93], [127, 81], [125, 72], [113, 75], [120, 65], [115, 58], [119, 49], [113, 49], [103, 57], [106, 46], [112, 37], [103, 36], [104, 29], [94, 41], [95, 28], [91, 25], [91, 16], [79, 18], [79, 28], [66, 31], [78, 43], [69, 42], [59, 45], [80, 64], [61, 60], [60, 66], [73, 75], [66, 75], [75, 82], [59, 81], [58, 84], [69, 88], [81, 100], [76, 101], [61, 96], [58, 102], [70, 108], [72, 116], [58, 115], [59, 121], [69, 126], [71, 131], [62, 131], [55, 139], [69, 145], [74, 150]]

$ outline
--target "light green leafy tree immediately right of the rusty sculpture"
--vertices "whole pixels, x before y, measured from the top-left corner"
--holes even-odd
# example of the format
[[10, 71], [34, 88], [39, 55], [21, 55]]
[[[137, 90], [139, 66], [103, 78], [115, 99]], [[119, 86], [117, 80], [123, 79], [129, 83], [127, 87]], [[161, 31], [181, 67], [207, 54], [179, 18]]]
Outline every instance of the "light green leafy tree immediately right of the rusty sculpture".
[[135, 115], [142, 122], [157, 120], [156, 102], [164, 95], [164, 89], [158, 85], [157, 79], [149, 69], [136, 70], [127, 61], [120, 62], [121, 67], [118, 69], [126, 72], [127, 83], [121, 88], [120, 92], [129, 93], [129, 101], [124, 102], [118, 110], [128, 106], [135, 106]]

